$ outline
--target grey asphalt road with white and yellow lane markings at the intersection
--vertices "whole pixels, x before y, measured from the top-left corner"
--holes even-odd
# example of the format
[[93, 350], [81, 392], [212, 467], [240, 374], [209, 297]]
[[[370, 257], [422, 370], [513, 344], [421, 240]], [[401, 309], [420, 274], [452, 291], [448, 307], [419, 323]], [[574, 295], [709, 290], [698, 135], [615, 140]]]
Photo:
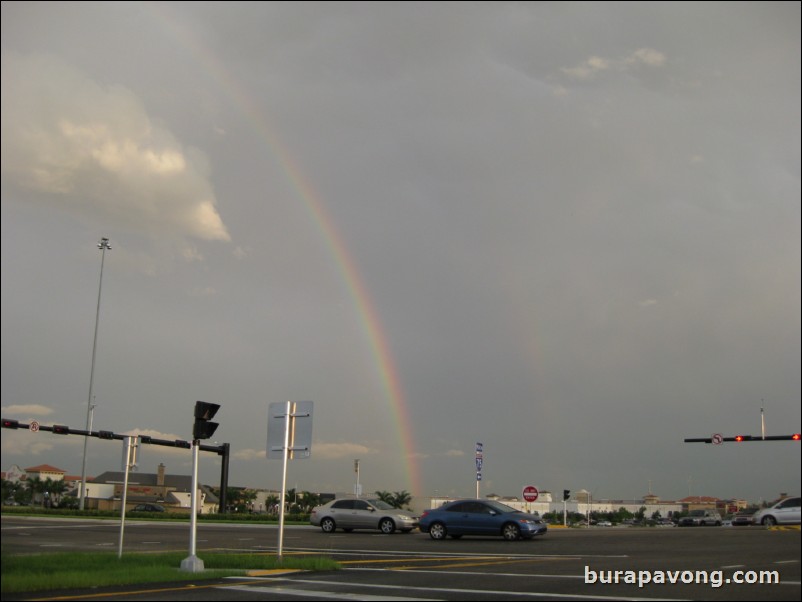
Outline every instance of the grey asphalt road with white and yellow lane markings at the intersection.
[[[116, 551], [118, 536], [116, 522], [2, 517], [3, 553]], [[274, 526], [200, 523], [197, 550], [200, 558], [204, 550], [275, 554], [277, 541]], [[126, 522], [126, 552], [188, 550], [188, 542], [186, 523]], [[436, 542], [422, 533], [324, 534], [317, 528], [288, 526], [283, 552], [324, 554], [338, 560], [343, 570], [96, 589], [91, 595], [101, 600], [798, 601], [801, 597], [798, 529], [552, 529], [532, 541], [464, 537]], [[761, 577], [775, 583], [736, 583]], [[650, 582], [644, 583], [647, 578]], [[665, 583], [656, 582], [661, 579]], [[57, 596], [86, 599], [87, 592], [4, 595], [3, 600]]]

